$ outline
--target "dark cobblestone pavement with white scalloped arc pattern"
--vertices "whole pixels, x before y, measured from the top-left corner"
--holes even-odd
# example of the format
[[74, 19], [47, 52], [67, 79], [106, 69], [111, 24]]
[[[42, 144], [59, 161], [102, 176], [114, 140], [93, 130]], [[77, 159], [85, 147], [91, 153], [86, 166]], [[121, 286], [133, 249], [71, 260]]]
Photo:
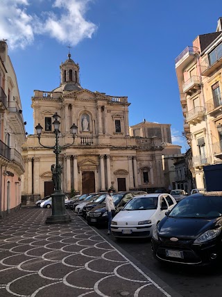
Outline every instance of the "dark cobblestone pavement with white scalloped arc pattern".
[[46, 225], [51, 209], [24, 208], [0, 220], [0, 296], [171, 296], [70, 211]]

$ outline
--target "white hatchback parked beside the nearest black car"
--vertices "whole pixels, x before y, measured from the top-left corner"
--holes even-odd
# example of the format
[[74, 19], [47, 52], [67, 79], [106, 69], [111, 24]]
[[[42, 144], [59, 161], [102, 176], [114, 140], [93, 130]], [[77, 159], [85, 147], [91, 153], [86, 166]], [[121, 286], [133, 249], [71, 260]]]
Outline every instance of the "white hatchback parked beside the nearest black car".
[[139, 195], [112, 218], [112, 235], [116, 238], [151, 237], [157, 223], [175, 205], [176, 200], [167, 193]]

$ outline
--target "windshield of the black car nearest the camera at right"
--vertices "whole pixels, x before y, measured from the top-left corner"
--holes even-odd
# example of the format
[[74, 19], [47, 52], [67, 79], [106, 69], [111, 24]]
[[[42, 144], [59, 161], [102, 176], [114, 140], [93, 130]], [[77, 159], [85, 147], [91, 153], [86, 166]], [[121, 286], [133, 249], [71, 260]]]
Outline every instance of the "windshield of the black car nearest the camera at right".
[[222, 216], [222, 197], [192, 196], [181, 200], [169, 214], [169, 218], [217, 218]]

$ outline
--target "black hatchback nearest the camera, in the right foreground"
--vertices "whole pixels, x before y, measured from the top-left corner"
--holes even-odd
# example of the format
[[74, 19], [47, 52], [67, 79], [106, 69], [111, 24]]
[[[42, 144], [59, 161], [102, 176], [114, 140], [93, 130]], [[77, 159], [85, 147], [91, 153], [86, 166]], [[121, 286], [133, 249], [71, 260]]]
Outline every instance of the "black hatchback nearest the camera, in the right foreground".
[[153, 230], [152, 249], [162, 262], [205, 265], [222, 255], [222, 194], [187, 196]]

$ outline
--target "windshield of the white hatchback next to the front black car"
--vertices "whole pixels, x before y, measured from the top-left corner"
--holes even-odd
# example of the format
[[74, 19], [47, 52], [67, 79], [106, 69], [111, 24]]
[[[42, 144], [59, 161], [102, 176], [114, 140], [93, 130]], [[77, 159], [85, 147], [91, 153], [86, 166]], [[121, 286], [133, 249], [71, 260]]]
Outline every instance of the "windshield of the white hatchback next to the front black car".
[[143, 197], [131, 199], [123, 210], [157, 209], [157, 197]]

